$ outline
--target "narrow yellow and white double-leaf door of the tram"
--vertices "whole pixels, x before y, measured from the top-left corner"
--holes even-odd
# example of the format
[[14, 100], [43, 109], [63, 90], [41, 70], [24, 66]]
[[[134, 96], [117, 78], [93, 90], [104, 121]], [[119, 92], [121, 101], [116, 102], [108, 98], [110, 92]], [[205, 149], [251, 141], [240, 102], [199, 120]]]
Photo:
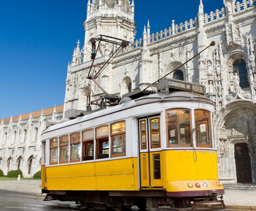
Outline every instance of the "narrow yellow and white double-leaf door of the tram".
[[139, 119], [141, 188], [163, 188], [160, 116]]

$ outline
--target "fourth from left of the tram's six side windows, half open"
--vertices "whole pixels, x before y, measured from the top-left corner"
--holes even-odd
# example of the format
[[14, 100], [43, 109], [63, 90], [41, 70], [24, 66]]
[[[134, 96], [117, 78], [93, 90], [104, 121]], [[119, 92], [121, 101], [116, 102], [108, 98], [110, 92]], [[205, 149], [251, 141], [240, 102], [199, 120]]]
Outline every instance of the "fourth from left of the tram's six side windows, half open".
[[93, 129], [82, 132], [83, 153], [82, 160], [93, 160]]

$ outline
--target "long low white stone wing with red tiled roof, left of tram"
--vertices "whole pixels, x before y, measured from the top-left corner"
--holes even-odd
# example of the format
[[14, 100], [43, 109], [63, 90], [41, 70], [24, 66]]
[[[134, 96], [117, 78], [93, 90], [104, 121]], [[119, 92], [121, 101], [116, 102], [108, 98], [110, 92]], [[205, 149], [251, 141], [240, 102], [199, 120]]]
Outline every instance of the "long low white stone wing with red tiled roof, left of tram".
[[41, 170], [41, 133], [46, 120], [61, 120], [63, 105], [2, 119], [0, 124], [0, 169], [6, 175], [21, 169], [24, 177]]

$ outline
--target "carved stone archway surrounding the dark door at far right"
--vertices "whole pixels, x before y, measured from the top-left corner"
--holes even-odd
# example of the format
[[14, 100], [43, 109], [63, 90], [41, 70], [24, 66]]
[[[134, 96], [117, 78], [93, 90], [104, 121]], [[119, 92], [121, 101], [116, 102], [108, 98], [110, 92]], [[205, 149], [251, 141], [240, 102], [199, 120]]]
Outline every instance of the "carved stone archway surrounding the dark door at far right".
[[[218, 169], [221, 179], [236, 182], [234, 145], [247, 143], [251, 156], [253, 182], [256, 181], [256, 105], [249, 100], [235, 100], [221, 108], [214, 116]], [[223, 145], [225, 145], [223, 147]], [[227, 150], [223, 150], [227, 148]]]

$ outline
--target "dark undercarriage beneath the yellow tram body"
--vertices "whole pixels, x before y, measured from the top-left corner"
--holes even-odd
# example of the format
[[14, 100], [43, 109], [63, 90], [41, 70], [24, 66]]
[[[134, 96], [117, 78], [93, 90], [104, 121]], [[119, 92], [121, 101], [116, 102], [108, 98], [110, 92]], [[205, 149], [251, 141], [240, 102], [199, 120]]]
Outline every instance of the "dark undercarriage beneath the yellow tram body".
[[[200, 210], [220, 210], [225, 209], [222, 200], [224, 191], [209, 190], [198, 193], [195, 191], [184, 192], [189, 196], [182, 194], [168, 194], [161, 190], [142, 190], [142, 191], [47, 191], [44, 201], [75, 201], [82, 208], [93, 208], [107, 210], [113, 208], [115, 211], [121, 211], [125, 208], [131, 208], [136, 205], [139, 209], [156, 208], [169, 206], [172, 208], [190, 208], [191, 210], [203, 208]], [[202, 196], [202, 194], [204, 196]], [[168, 195], [177, 195], [170, 197]], [[193, 196], [194, 195], [194, 196]]]

